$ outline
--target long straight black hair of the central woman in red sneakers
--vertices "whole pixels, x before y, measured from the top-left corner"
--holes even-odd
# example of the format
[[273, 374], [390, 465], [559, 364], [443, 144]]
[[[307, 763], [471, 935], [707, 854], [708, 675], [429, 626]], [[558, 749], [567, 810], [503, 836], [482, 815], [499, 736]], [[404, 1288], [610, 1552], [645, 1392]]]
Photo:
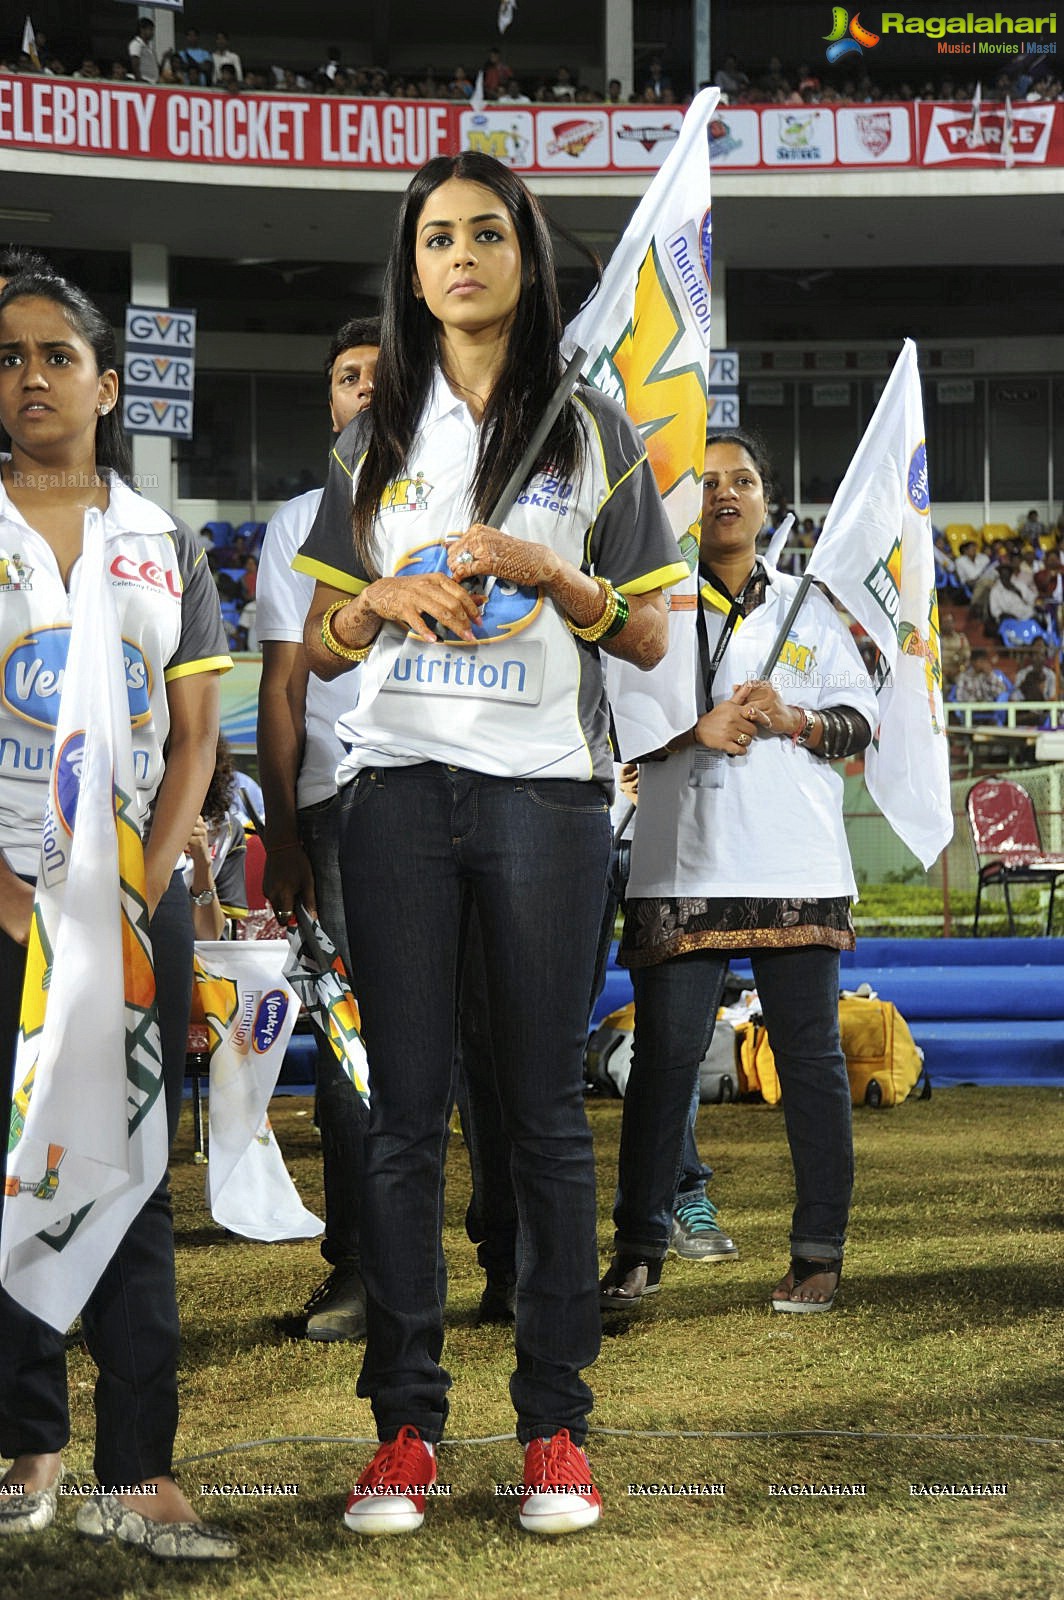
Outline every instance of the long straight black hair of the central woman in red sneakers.
[[[562, 307], [554, 246], [539, 203], [509, 166], [480, 150], [438, 155], [414, 173], [392, 232], [381, 309], [381, 360], [373, 405], [366, 413], [368, 448], [355, 488], [355, 550], [366, 571], [376, 571], [373, 522], [387, 485], [403, 470], [438, 360], [437, 323], [414, 294], [418, 219], [430, 194], [451, 178], [482, 184], [506, 206], [522, 253], [522, 293], [514, 312], [506, 363], [483, 413], [477, 466], [470, 485], [472, 510], [488, 515], [526, 448], [547, 400], [562, 376], [558, 341]], [[550, 430], [538, 466], [550, 462], [562, 474], [576, 472], [582, 432], [573, 405]]]

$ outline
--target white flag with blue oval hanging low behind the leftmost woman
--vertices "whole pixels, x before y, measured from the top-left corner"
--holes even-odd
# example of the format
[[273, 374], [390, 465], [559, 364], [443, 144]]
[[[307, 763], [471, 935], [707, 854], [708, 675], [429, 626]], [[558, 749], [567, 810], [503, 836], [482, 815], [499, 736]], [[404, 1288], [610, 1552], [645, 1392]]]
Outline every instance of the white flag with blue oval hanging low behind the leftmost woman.
[[198, 941], [195, 989], [211, 1040], [206, 1197], [245, 1238], [312, 1238], [323, 1224], [296, 1192], [267, 1107], [299, 1014], [286, 939]]

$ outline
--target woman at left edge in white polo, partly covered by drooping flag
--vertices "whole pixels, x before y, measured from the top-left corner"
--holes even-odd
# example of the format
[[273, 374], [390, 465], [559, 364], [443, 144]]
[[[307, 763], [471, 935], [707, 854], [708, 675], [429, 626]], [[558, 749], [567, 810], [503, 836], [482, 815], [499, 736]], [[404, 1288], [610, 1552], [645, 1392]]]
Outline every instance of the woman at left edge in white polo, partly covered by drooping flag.
[[[114, 333], [96, 306], [58, 277], [13, 278], [0, 296], [0, 426], [11, 448], [0, 456], [0, 1053], [10, 1099], [59, 686], [85, 530], [98, 518], [126, 658], [136, 821], [149, 835], [173, 1138], [192, 990], [192, 912], [176, 867], [214, 768], [218, 674], [230, 662], [190, 530], [128, 486], [117, 397]], [[195, 1517], [171, 1477], [178, 1302], [166, 1178], [104, 1269], [82, 1328], [99, 1368], [101, 1493], [78, 1506], [78, 1531], [165, 1560], [235, 1555], [235, 1542]], [[59, 1453], [70, 1437], [66, 1339], [0, 1290], [0, 1454], [13, 1458], [0, 1534], [38, 1533], [54, 1517]]]

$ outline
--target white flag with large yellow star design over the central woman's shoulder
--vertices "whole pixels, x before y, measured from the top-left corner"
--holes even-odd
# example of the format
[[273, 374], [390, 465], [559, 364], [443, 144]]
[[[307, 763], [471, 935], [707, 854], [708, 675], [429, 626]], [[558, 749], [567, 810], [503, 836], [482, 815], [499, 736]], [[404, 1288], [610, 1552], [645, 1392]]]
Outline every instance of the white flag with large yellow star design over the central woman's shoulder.
[[[606, 682], [621, 742], [634, 760], [698, 717], [698, 544], [709, 386], [709, 118], [720, 90], [691, 102], [677, 142], [640, 200], [589, 306], [565, 330], [563, 349], [589, 352], [584, 371], [640, 429], [688, 562], [667, 590], [669, 651], [651, 672], [608, 658]], [[608, 576], [608, 574], [606, 574]]]

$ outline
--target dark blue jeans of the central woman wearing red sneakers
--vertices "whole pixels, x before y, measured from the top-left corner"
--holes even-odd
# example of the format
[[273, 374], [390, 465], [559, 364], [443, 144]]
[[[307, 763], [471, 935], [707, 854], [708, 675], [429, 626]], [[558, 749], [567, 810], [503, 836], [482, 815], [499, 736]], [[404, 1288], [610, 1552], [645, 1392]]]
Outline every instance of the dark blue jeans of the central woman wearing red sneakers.
[[491, 1058], [517, 1197], [517, 1434], [587, 1430], [598, 1354], [595, 1168], [582, 1054], [610, 858], [603, 790], [424, 763], [342, 790], [341, 875], [373, 1083], [358, 1394], [381, 1438], [437, 1440], [450, 1376], [438, 1270], [466, 917], [483, 934]]

